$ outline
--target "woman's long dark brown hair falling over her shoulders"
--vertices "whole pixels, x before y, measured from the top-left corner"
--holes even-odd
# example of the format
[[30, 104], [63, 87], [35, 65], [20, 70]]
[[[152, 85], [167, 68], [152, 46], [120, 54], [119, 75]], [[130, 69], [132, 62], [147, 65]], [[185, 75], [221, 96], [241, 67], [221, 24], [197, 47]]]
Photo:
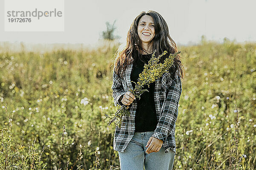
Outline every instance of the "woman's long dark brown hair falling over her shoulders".
[[[152, 49], [153, 51], [155, 49], [157, 50], [155, 55], [161, 55], [165, 50], [168, 52], [168, 55], [164, 55], [160, 59], [160, 62], [163, 63], [163, 61], [169, 56], [170, 53], [173, 54], [178, 51], [176, 43], [169, 35], [169, 28], [163, 17], [155, 11], [143, 11], [133, 20], [131, 24], [131, 27], [127, 33], [126, 46], [124, 46], [122, 49], [119, 46], [119, 49], [114, 54], [115, 62], [113, 71], [115, 71], [116, 74], [119, 76], [129, 64], [137, 59], [137, 57], [139, 56], [139, 51], [144, 51], [145, 53], [147, 53], [142, 47], [142, 42], [137, 32], [138, 23], [143, 15], [149, 15], [154, 20], [155, 36], [152, 39]], [[174, 65], [171, 69], [169, 69], [169, 72], [175, 73], [177, 70], [180, 78], [183, 78], [184, 67], [180, 61], [180, 55], [177, 55], [177, 57], [174, 58]]]

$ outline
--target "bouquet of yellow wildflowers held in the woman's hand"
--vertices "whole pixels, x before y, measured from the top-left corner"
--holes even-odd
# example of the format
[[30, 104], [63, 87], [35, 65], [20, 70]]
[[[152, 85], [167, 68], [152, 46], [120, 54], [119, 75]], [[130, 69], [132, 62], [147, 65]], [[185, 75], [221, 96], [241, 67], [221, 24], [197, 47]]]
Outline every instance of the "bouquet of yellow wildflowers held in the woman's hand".
[[[160, 61], [160, 58], [163, 55], [166, 55], [167, 51], [164, 51], [163, 54], [159, 55], [158, 57], [155, 56], [156, 52], [157, 50], [155, 50], [154, 53], [152, 54], [152, 57], [148, 61], [148, 64], [144, 65], [143, 72], [139, 74], [138, 82], [136, 83], [134, 81], [131, 81], [135, 84], [135, 88], [134, 90], [129, 89], [129, 91], [139, 100], [140, 100], [140, 95], [143, 92], [148, 92], [148, 90], [143, 89], [143, 87], [145, 85], [148, 85], [149, 87], [150, 83], [156, 81], [157, 78], [160, 78], [161, 76], [163, 76], [165, 72], [168, 72], [168, 70], [172, 67], [174, 63], [175, 56], [177, 56], [177, 54], [180, 53], [179, 51], [179, 52], [175, 52], [174, 54], [170, 54], [169, 57], [166, 58], [163, 63], [158, 63]], [[129, 106], [122, 105], [121, 107], [119, 107], [119, 109], [116, 111], [115, 114], [112, 114], [110, 116], [105, 114], [105, 116], [110, 119], [110, 123], [108, 124], [108, 126], [110, 126], [111, 123], [114, 123], [116, 124], [116, 126], [120, 128], [122, 124], [122, 116], [126, 115], [130, 117], [130, 112], [128, 108]]]

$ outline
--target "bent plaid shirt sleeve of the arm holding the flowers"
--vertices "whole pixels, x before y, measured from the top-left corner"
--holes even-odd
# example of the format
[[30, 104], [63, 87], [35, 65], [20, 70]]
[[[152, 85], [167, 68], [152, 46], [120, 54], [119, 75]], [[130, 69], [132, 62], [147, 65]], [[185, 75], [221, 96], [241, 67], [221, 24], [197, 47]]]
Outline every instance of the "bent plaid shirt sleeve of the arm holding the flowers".
[[114, 105], [117, 106], [117, 104], [121, 105], [121, 102], [119, 101], [119, 98], [125, 94], [125, 90], [122, 86], [122, 81], [119, 75], [116, 74], [115, 71], [113, 71], [113, 83], [111, 86], [111, 89], [113, 90], [113, 101]]

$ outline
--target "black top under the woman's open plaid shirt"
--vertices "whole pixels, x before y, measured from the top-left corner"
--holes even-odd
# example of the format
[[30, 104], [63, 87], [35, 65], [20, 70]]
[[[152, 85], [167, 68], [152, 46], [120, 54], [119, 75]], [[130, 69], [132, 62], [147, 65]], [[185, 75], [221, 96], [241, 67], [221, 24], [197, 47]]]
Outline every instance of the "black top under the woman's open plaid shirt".
[[[131, 81], [137, 83], [139, 74], [143, 71], [145, 63], [148, 63], [152, 54], [139, 55], [139, 58], [134, 60], [133, 68], [131, 71]], [[131, 82], [133, 88], [135, 84]], [[137, 101], [137, 110], [135, 114], [135, 132], [149, 132], [154, 131], [157, 127], [157, 114], [154, 103], [154, 87], [155, 82], [143, 89], [148, 89], [149, 92], [144, 92], [140, 95], [140, 100]]]

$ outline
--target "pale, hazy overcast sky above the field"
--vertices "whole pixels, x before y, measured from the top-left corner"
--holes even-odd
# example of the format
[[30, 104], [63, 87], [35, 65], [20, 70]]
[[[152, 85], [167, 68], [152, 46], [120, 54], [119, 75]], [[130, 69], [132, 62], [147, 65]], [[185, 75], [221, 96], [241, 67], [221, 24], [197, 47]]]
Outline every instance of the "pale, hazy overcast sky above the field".
[[178, 44], [198, 43], [201, 36], [222, 42], [256, 41], [256, 0], [64, 0], [64, 32], [4, 32], [0, 0], [0, 41], [27, 43], [97, 43], [106, 22], [116, 20], [124, 42], [131, 22], [142, 11], [159, 12]]

